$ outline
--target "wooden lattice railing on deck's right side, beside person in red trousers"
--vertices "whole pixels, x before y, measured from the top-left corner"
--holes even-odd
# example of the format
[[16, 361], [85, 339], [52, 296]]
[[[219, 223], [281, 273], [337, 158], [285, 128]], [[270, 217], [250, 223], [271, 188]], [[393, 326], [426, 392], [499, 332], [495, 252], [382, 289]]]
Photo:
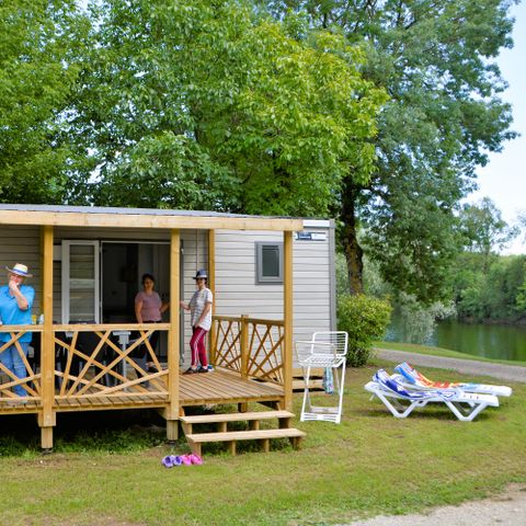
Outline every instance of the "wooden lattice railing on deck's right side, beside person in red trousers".
[[210, 359], [218, 366], [284, 386], [284, 322], [214, 316]]

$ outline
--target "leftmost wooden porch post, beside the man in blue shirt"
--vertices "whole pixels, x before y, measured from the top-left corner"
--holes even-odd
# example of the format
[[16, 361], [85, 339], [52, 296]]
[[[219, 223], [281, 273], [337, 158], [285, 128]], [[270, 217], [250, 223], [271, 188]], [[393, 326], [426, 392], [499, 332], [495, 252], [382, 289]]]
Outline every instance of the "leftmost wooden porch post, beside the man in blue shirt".
[[56, 413], [53, 410], [55, 398], [55, 344], [53, 334], [53, 226], [41, 228], [42, 241], [42, 306], [44, 332], [41, 346], [42, 410], [38, 412], [41, 445], [44, 450], [53, 448], [53, 427]]

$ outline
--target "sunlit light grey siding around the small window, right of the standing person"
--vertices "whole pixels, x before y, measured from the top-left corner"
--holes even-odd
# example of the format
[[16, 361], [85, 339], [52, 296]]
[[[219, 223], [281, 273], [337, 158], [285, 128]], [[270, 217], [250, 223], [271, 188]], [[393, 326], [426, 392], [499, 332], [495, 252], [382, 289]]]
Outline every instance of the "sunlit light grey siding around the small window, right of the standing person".
[[[304, 229], [321, 236], [294, 240], [294, 340], [335, 329], [334, 225], [305, 221]], [[282, 242], [283, 235], [216, 231], [217, 315], [283, 320], [283, 285], [256, 283], [255, 243], [261, 241]]]

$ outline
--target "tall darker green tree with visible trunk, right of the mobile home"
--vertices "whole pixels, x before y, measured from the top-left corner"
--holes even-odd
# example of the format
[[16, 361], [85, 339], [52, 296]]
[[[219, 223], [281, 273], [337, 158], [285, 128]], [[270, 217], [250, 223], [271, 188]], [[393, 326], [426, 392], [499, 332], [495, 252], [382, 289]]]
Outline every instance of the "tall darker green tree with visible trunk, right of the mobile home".
[[377, 171], [365, 184], [343, 179], [341, 243], [351, 290], [362, 290], [364, 248], [386, 281], [419, 300], [446, 294], [460, 239], [456, 210], [474, 186], [477, 165], [499, 151], [511, 107], [494, 58], [510, 47], [508, 0], [370, 0], [264, 2], [276, 16], [305, 11], [313, 27], [363, 43], [366, 79], [390, 101], [378, 123]]

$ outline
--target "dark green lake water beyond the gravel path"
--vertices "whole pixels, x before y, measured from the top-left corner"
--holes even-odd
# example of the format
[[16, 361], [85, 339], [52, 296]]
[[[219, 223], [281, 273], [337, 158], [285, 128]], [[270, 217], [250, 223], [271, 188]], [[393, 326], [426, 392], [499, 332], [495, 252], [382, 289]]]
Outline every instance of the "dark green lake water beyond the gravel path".
[[[401, 342], [397, 321], [389, 327], [388, 342]], [[526, 362], [526, 327], [441, 321], [425, 345], [450, 348], [473, 356]]]

